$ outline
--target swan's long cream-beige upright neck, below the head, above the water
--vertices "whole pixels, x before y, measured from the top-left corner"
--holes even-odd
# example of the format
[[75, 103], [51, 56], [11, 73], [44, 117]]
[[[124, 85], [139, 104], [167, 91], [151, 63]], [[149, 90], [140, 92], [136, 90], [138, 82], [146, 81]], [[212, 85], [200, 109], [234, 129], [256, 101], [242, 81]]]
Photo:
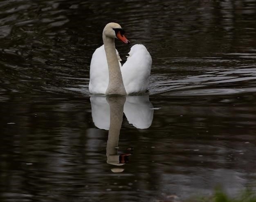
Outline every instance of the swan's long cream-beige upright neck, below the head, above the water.
[[126, 90], [124, 88], [124, 82], [115, 48], [115, 39], [107, 37], [103, 34], [103, 43], [108, 61], [109, 76], [106, 94], [126, 95]]

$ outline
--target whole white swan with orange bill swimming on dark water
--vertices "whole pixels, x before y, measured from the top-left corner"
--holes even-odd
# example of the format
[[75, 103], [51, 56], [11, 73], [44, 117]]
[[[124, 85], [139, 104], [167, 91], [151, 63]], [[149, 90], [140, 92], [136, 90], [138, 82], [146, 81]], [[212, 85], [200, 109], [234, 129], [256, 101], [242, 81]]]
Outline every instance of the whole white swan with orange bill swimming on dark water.
[[132, 46], [127, 61], [121, 66], [115, 38], [130, 44], [124, 30], [119, 24], [110, 22], [103, 29], [102, 37], [104, 45], [94, 51], [90, 64], [90, 93], [126, 95], [146, 92], [152, 64], [146, 47], [142, 44]]

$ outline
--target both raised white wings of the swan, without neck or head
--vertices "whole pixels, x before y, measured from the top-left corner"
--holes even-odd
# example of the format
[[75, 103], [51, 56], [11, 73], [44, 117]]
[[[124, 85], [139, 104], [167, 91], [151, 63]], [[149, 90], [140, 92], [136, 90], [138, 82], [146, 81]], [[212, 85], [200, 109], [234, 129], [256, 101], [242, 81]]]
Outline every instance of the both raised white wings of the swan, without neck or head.
[[[119, 66], [127, 94], [146, 92], [148, 79], [151, 71], [152, 58], [146, 47], [142, 44], [135, 44], [131, 47], [127, 61], [121, 66], [120, 56]], [[108, 63], [104, 45], [97, 48], [90, 64], [89, 91], [91, 94], [105, 94], [108, 88]]]

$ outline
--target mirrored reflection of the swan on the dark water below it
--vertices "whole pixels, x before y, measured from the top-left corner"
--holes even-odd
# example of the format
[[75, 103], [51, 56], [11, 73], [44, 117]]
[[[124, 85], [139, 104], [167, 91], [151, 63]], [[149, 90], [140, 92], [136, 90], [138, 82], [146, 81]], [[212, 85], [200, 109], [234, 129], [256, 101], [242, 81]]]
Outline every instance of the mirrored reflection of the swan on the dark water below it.
[[[123, 112], [130, 124], [138, 129], [150, 127], [153, 121], [153, 105], [148, 95], [141, 96], [92, 96], [92, 120], [99, 129], [108, 130], [107, 163], [121, 166], [128, 162], [131, 155], [129, 151], [125, 154], [118, 153], [118, 142], [120, 129], [123, 122]], [[132, 150], [131, 148], [129, 149]], [[113, 168], [113, 172], [124, 171], [122, 168]]]

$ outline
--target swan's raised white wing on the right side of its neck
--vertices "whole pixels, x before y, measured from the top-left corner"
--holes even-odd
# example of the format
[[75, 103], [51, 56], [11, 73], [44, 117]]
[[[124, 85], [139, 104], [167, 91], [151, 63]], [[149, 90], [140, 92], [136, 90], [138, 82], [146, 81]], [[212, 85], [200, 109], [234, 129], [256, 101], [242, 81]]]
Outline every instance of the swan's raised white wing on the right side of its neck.
[[148, 88], [152, 58], [142, 44], [135, 44], [128, 53], [127, 61], [121, 67], [127, 94], [143, 93]]

